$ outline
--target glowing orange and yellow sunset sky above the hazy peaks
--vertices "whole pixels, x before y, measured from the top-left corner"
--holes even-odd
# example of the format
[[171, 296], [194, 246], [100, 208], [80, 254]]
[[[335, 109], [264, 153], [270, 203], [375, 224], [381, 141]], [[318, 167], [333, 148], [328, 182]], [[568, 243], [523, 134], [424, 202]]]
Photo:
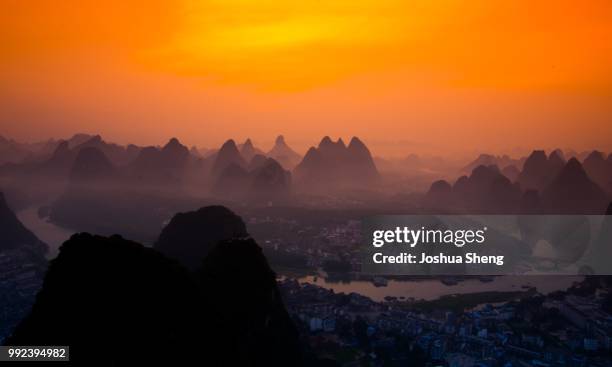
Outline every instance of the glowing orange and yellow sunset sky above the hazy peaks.
[[612, 150], [612, 2], [4, 0], [0, 134]]

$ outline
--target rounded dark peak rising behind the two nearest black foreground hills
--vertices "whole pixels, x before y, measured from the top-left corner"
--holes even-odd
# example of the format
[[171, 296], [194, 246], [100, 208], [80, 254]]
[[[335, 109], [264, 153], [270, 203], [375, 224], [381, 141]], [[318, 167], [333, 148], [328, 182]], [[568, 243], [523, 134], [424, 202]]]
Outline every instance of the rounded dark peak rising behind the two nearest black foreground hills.
[[246, 236], [242, 218], [223, 206], [207, 206], [176, 214], [162, 230], [154, 248], [195, 269], [219, 241]]

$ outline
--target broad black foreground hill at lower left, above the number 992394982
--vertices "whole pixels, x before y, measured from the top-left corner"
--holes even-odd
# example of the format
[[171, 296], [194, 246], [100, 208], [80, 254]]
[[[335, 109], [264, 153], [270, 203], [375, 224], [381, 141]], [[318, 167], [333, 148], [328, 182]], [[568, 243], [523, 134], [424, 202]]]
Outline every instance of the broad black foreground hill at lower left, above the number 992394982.
[[73, 363], [185, 363], [207, 339], [198, 305], [189, 272], [159, 252], [119, 236], [76, 234], [7, 344], [69, 345]]

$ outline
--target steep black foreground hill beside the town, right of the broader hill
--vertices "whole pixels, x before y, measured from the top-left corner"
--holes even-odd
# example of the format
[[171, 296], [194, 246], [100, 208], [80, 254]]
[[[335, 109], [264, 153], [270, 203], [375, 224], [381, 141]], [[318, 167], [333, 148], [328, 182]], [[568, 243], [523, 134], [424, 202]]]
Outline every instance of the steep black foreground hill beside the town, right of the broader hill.
[[300, 364], [298, 333], [276, 284], [276, 275], [252, 239], [222, 241], [197, 272], [205, 300], [223, 325], [223, 354], [236, 365]]

